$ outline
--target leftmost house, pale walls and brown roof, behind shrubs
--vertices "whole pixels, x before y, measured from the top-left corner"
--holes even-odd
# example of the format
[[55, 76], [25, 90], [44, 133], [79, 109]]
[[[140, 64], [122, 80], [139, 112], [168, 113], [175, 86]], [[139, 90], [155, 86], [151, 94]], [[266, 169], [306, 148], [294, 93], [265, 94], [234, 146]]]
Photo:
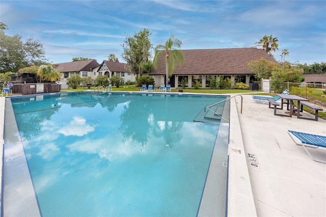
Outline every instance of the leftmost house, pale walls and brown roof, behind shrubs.
[[52, 64], [53, 68], [58, 69], [62, 73], [62, 89], [68, 89], [67, 78], [75, 74], [79, 74], [80, 77], [91, 76], [92, 78], [96, 78], [92, 72], [92, 68], [98, 65], [99, 64], [96, 60], [82, 60], [68, 63]]

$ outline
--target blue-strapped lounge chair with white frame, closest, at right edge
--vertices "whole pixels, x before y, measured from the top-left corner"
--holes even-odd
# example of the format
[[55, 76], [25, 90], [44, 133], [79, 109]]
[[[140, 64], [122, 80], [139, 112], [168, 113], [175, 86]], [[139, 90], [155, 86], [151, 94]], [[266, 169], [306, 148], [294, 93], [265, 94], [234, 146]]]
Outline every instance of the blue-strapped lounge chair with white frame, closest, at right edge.
[[326, 148], [326, 137], [324, 135], [309, 134], [292, 130], [288, 130], [288, 133], [295, 144], [301, 145], [312, 160], [326, 164], [325, 160], [313, 158], [308, 150], [308, 148]]

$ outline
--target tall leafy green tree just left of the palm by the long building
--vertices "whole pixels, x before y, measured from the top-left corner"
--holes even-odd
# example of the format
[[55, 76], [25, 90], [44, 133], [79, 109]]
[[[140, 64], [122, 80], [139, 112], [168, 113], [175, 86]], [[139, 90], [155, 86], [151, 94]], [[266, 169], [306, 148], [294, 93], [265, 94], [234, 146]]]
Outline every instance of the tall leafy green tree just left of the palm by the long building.
[[122, 58], [127, 63], [127, 68], [133, 74], [142, 76], [144, 72], [145, 62], [150, 61], [150, 49], [152, 43], [149, 36], [151, 33], [148, 29], [144, 29], [138, 33], [135, 33], [133, 37], [126, 36], [122, 44], [123, 53]]

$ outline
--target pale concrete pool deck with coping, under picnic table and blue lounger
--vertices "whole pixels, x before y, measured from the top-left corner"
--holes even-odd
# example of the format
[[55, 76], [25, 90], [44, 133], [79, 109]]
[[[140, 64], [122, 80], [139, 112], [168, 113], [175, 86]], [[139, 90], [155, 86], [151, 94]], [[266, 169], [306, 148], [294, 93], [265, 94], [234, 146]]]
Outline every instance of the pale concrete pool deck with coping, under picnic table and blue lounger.
[[[256, 103], [252, 95], [242, 97], [242, 114], [241, 97], [231, 99], [228, 216], [326, 216], [326, 164], [311, 160], [287, 133], [325, 135], [326, 121], [274, 116], [268, 104]], [[5, 97], [0, 97], [1, 138], [4, 104]], [[326, 158], [322, 150], [312, 153]], [[250, 165], [252, 159], [256, 166]], [[210, 201], [202, 204], [206, 208], [199, 215], [210, 215]]]

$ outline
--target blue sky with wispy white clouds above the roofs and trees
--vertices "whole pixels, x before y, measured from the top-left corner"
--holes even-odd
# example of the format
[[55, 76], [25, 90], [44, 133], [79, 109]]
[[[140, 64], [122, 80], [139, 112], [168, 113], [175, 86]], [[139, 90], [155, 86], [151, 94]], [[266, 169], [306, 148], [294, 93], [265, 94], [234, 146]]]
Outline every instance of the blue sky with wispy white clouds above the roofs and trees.
[[124, 39], [144, 28], [154, 47], [173, 34], [181, 49], [253, 47], [273, 34], [277, 61], [288, 49], [291, 63], [326, 62], [326, 1], [1, 0], [0, 7], [6, 34], [40, 40], [51, 63], [73, 57], [101, 63], [110, 53], [125, 62]]

